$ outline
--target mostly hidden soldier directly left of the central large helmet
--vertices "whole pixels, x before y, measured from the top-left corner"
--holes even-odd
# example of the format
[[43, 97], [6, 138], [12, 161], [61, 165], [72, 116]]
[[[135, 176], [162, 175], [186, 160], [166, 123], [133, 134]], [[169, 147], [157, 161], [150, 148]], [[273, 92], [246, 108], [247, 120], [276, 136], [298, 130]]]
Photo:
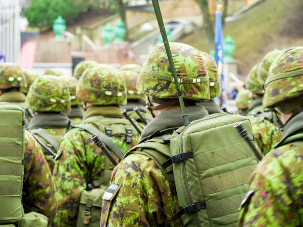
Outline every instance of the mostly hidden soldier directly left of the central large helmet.
[[121, 106], [121, 108], [126, 109], [132, 119], [136, 120], [141, 125], [144, 125], [144, 122], [142, 122], [140, 116], [138, 116], [138, 114], [133, 110], [134, 107], [138, 107], [145, 121], [150, 122], [151, 120], [153, 120], [153, 117], [150, 115], [149, 111], [143, 104], [145, 102], [145, 95], [138, 91], [136, 88], [136, 83], [139, 74], [130, 70], [120, 72], [126, 80], [127, 89], [127, 104]]

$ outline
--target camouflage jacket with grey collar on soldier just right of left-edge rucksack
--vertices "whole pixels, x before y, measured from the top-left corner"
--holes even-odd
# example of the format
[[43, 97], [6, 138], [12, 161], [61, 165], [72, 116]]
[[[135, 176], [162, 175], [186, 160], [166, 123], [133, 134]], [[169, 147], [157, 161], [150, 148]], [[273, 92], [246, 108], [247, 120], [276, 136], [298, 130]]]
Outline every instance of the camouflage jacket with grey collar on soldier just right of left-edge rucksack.
[[[63, 114], [44, 112], [39, 113], [32, 118], [27, 130], [30, 133], [34, 133], [44, 145], [56, 154], [59, 150], [60, 140], [66, 133], [68, 122], [68, 117]], [[40, 130], [42, 132], [36, 133], [36, 130]], [[42, 136], [41, 133], [46, 133], [46, 135]], [[51, 140], [54, 140], [54, 142], [51, 142]], [[41, 144], [40, 146], [43, 150], [49, 168], [51, 168], [51, 171], [53, 172], [55, 163], [52, 160], [52, 157], [54, 155], [49, 153]]]

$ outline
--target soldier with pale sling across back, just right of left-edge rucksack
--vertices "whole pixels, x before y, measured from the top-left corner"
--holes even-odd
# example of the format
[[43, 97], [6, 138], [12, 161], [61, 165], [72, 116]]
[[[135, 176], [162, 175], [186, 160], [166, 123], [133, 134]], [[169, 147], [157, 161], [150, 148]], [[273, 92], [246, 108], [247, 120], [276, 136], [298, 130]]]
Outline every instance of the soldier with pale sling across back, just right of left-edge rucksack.
[[27, 129], [38, 138], [53, 171], [52, 158], [59, 150], [59, 141], [69, 124], [68, 117], [62, 114], [71, 111], [69, 88], [56, 76], [39, 77], [29, 89], [26, 105], [34, 111]]

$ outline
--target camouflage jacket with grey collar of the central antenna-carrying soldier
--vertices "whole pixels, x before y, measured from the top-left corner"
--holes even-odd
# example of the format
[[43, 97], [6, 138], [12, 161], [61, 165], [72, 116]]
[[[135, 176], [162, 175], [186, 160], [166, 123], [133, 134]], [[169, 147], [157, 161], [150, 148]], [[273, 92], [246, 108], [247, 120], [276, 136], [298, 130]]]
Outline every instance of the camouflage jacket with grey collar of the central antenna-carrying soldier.
[[[186, 107], [186, 112], [190, 121], [208, 115], [202, 106]], [[181, 109], [161, 112], [144, 128], [141, 137], [146, 138], [157, 130], [181, 127], [181, 116]], [[101, 227], [183, 226], [181, 218], [171, 221], [179, 210], [177, 196], [173, 193], [176, 189], [170, 187], [160, 168], [146, 155], [130, 153], [124, 156], [114, 168], [111, 184], [116, 190], [111, 198], [103, 200]]]

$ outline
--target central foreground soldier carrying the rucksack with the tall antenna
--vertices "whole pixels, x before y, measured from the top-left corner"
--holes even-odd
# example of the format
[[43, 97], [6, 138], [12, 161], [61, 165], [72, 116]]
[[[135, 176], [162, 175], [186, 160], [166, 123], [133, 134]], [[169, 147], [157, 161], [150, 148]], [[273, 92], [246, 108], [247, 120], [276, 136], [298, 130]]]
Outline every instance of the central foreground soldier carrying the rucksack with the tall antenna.
[[[188, 80], [195, 79], [197, 75], [200, 78], [200, 83], [182, 85], [189, 121], [208, 116], [203, 106], [196, 105], [196, 102], [210, 98], [202, 56], [197, 49], [186, 44], [170, 43], [170, 48], [175, 55], [174, 62], [178, 65], [177, 75], [187, 77]], [[158, 45], [149, 54], [138, 78], [137, 89], [148, 95], [147, 105], [154, 115], [154, 120], [145, 126], [141, 138], [147, 138], [157, 130], [183, 125], [176, 88], [171, 82], [168, 66], [164, 46]], [[191, 93], [193, 91], [194, 94]], [[171, 133], [172, 130], [166, 132]], [[181, 219], [169, 222], [173, 213], [179, 209], [169, 181], [153, 160], [139, 152], [130, 154], [115, 167], [111, 182], [118, 187], [113, 188], [112, 196], [103, 200], [101, 226], [183, 226]]]

